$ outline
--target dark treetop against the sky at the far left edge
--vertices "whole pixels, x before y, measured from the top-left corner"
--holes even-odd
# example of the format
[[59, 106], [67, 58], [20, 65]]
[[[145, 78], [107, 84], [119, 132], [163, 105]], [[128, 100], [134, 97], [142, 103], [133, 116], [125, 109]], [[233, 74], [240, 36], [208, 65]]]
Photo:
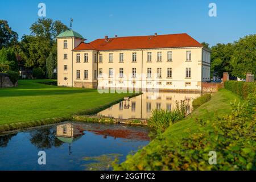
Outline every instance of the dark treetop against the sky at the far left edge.
[[18, 34], [11, 30], [6, 20], [0, 19], [0, 49], [15, 46], [18, 43]]

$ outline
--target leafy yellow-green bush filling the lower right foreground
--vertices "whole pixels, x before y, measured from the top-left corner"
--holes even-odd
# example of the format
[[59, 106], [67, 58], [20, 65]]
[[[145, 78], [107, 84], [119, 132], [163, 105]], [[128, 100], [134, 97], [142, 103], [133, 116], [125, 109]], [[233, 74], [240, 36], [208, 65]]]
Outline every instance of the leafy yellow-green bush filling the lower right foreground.
[[[256, 98], [253, 94], [247, 98], [243, 105], [234, 102], [229, 115], [212, 121], [197, 120], [199, 130], [177, 143], [160, 135], [154, 150], [152, 147], [142, 149], [142, 159], [135, 161], [129, 155], [129, 163], [114, 163], [114, 169], [256, 170]], [[210, 151], [216, 151], [216, 165], [208, 163]]]

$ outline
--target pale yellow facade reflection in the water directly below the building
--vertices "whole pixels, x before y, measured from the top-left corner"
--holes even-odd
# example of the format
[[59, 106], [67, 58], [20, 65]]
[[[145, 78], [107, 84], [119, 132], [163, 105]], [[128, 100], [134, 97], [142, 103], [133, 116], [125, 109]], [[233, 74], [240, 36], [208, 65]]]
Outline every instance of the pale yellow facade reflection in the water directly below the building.
[[176, 108], [176, 101], [183, 100], [188, 102], [187, 111], [190, 113], [193, 99], [199, 96], [200, 93], [143, 93], [140, 96], [119, 102], [119, 104], [112, 106], [111, 109], [101, 111], [98, 115], [119, 119], [149, 118], [152, 109], [172, 110]]

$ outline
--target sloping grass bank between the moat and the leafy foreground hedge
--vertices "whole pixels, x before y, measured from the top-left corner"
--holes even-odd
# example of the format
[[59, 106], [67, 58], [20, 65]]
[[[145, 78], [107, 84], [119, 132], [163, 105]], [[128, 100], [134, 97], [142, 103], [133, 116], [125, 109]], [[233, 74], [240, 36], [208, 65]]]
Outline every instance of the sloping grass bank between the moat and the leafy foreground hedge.
[[155, 154], [157, 156], [158, 146], [164, 146], [167, 143], [178, 144], [181, 139], [190, 137], [190, 134], [199, 130], [200, 126], [196, 123], [196, 119], [213, 120], [217, 115], [230, 113], [230, 102], [234, 100], [243, 102], [239, 96], [226, 89], [214, 93], [209, 102], [201, 105], [185, 119], [170, 126], [160, 137], [152, 140], [150, 144], [143, 147], [135, 155], [130, 156], [121, 164], [121, 169], [133, 170], [134, 166], [139, 166], [142, 161], [147, 160], [147, 155]]

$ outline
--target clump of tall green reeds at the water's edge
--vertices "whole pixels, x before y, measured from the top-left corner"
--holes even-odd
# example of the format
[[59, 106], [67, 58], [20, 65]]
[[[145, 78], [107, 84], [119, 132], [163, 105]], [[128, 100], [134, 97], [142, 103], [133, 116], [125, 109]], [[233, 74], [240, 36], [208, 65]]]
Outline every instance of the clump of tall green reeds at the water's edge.
[[148, 119], [147, 125], [156, 130], [156, 133], [161, 134], [173, 123], [184, 118], [184, 115], [177, 109], [164, 110], [154, 109], [152, 110], [152, 116]]

